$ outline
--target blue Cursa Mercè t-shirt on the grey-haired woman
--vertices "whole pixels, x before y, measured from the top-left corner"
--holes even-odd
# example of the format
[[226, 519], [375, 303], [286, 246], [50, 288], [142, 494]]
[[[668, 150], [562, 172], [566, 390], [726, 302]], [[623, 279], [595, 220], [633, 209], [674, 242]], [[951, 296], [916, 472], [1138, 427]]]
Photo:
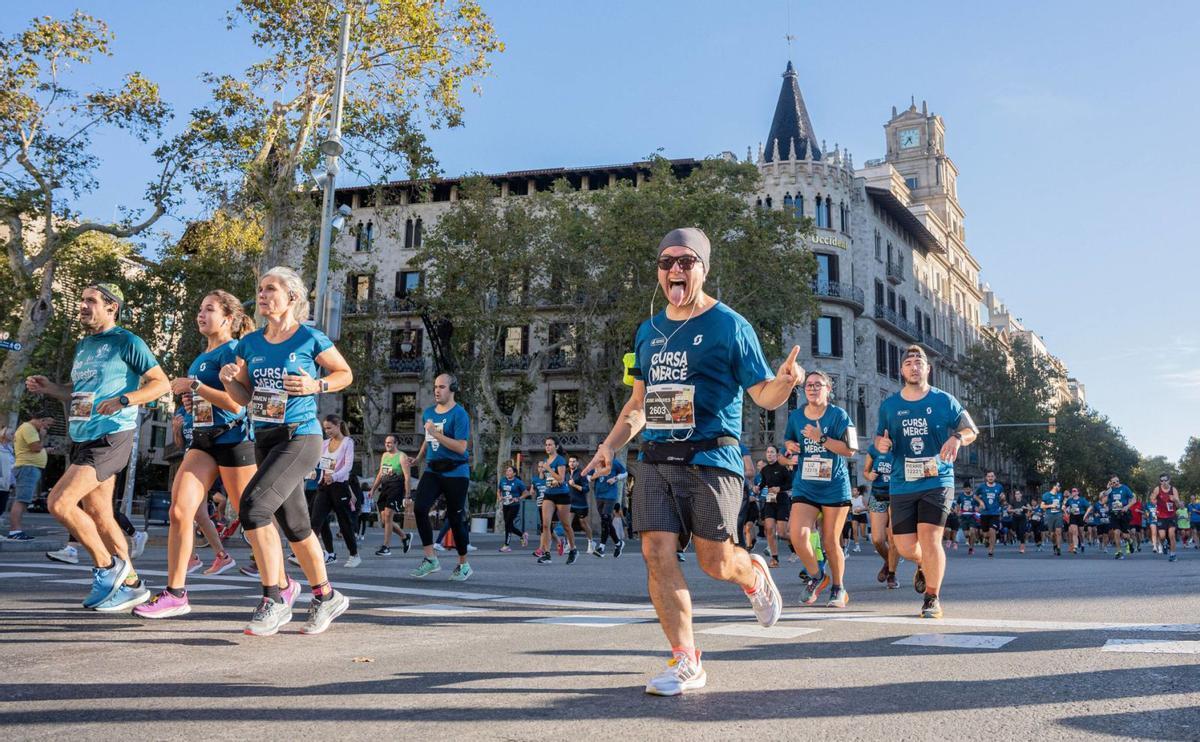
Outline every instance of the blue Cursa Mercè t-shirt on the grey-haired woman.
[[245, 359], [250, 375], [250, 419], [254, 430], [295, 425], [298, 436], [319, 436], [317, 397], [312, 394], [292, 395], [283, 390], [283, 376], [299, 376], [302, 370], [313, 378], [320, 377], [317, 357], [334, 347], [324, 333], [301, 324], [292, 337], [269, 342], [258, 329], [245, 335], [235, 348]]

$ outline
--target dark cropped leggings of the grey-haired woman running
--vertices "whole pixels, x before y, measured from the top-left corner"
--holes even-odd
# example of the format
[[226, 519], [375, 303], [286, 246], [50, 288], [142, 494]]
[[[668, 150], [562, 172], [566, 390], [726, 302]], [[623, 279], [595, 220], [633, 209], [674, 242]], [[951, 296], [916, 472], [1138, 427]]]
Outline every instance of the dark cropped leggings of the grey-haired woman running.
[[246, 531], [265, 528], [275, 517], [284, 538], [296, 544], [312, 533], [304, 479], [320, 460], [320, 436], [295, 436], [274, 445], [259, 436], [254, 441], [258, 471], [241, 493], [241, 526]]

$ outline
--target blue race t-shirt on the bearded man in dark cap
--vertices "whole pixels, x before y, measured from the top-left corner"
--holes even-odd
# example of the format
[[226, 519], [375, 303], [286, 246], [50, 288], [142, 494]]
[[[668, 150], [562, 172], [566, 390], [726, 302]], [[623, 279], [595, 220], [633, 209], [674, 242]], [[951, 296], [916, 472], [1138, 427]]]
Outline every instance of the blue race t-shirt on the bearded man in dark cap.
[[938, 454], [966, 423], [962, 405], [936, 387], [911, 402], [899, 391], [883, 400], [875, 435], [892, 438], [892, 495], [953, 487], [954, 465]]

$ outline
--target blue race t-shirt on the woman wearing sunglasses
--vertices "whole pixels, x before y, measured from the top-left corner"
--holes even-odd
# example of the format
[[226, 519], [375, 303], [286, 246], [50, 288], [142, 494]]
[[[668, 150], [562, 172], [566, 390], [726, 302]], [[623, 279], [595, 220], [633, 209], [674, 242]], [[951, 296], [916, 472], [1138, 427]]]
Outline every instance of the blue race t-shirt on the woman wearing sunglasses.
[[822, 505], [836, 505], [850, 502], [850, 472], [846, 457], [839, 456], [816, 441], [804, 437], [804, 427], [816, 425], [821, 433], [835, 441], [844, 441], [851, 448], [858, 448], [858, 435], [854, 424], [846, 411], [836, 405], [826, 407], [820, 420], [814, 420], [798, 407], [787, 415], [786, 441], [800, 445], [800, 460], [797, 462], [796, 475], [792, 477], [792, 496], [804, 497]]

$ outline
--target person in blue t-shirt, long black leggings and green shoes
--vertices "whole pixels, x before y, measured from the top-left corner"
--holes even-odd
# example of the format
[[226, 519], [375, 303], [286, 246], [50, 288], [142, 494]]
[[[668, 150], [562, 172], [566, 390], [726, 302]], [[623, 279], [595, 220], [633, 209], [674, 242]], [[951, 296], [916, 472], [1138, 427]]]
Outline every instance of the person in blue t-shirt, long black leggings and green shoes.
[[458, 393], [458, 379], [449, 373], [442, 373], [433, 379], [433, 405], [425, 408], [421, 420], [425, 424], [425, 441], [416, 451], [416, 460], [425, 457], [425, 471], [416, 483], [416, 532], [421, 537], [425, 557], [409, 576], [426, 578], [442, 570], [442, 564], [433, 556], [433, 525], [430, 522], [430, 510], [445, 498], [446, 520], [454, 533], [454, 547], [458, 552], [458, 566], [450, 573], [450, 579], [463, 582], [474, 574], [467, 563], [467, 546], [470, 533], [467, 528], [467, 493], [470, 485], [470, 467], [467, 449], [470, 445], [470, 418], [462, 405], [455, 401]]

